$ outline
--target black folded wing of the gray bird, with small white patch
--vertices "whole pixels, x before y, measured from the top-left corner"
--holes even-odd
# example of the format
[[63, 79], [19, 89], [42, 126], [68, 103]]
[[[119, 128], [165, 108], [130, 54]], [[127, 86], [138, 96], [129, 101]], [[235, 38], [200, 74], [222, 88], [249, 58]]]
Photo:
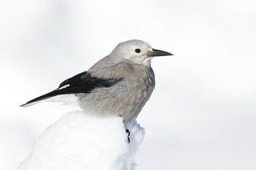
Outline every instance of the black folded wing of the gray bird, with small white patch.
[[68, 78], [67, 80], [63, 81], [58, 89], [53, 90], [43, 96], [36, 97], [35, 99], [28, 101], [26, 104], [22, 104], [21, 106], [28, 106], [30, 103], [35, 103], [38, 101], [42, 101], [49, 97], [58, 96], [61, 94], [77, 94], [77, 93], [90, 93], [93, 89], [97, 87], [111, 87], [115, 85], [121, 79], [109, 78], [109, 79], [102, 79], [91, 76], [90, 73], [84, 71], [83, 73], [77, 74], [72, 78]]

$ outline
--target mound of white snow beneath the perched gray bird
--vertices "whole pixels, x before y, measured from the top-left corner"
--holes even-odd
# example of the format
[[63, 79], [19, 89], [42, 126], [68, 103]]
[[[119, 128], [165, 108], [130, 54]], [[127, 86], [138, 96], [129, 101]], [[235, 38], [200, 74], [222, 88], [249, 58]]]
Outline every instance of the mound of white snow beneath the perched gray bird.
[[[125, 129], [131, 132], [130, 143]], [[144, 136], [136, 120], [123, 123], [120, 117], [67, 113], [45, 130], [18, 169], [135, 169]]]

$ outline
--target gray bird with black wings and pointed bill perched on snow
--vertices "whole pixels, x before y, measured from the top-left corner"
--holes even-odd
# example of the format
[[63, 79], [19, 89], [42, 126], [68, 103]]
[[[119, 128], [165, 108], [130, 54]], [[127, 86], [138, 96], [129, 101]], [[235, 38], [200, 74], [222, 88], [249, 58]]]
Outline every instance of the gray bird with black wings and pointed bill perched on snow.
[[63, 81], [58, 89], [21, 106], [31, 106], [54, 96], [74, 94], [79, 106], [93, 115], [136, 119], [155, 87], [152, 57], [173, 55], [155, 50], [141, 40], [120, 43], [88, 71]]

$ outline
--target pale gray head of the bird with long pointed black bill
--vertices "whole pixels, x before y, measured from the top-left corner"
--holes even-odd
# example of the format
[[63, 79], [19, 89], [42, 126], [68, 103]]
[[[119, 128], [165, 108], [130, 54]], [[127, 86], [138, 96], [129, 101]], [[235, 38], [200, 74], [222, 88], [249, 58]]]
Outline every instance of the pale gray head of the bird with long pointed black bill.
[[113, 62], [132, 62], [143, 66], [150, 66], [152, 57], [173, 55], [172, 53], [155, 50], [148, 43], [141, 40], [129, 40], [120, 43], [111, 52]]

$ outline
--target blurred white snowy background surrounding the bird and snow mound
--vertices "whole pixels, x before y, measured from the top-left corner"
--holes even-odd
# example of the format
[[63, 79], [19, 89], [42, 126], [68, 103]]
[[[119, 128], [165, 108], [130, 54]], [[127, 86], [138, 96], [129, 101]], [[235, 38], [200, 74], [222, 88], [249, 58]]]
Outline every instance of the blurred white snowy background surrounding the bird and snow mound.
[[255, 1], [0, 1], [0, 169], [15, 169], [70, 106], [30, 99], [141, 39], [156, 89], [136, 169], [256, 169]]

